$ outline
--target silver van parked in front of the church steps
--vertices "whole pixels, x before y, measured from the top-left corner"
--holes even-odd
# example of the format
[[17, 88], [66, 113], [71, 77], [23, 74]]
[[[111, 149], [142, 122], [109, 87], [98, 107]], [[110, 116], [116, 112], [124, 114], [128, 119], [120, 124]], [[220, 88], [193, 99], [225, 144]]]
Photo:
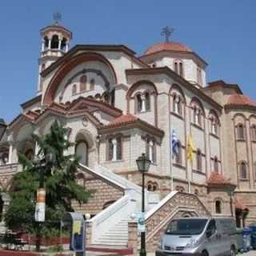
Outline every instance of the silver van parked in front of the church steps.
[[236, 240], [233, 218], [174, 218], [155, 254], [234, 256]]

